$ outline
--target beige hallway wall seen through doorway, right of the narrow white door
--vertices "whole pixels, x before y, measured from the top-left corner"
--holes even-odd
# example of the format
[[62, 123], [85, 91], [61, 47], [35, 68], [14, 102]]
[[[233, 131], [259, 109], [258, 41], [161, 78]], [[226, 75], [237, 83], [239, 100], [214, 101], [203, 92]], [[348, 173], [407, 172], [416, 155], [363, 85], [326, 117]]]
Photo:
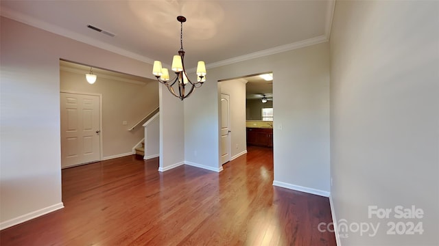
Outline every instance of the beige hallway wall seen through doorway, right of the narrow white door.
[[247, 152], [246, 146], [246, 81], [220, 82], [221, 92], [230, 96], [230, 159]]

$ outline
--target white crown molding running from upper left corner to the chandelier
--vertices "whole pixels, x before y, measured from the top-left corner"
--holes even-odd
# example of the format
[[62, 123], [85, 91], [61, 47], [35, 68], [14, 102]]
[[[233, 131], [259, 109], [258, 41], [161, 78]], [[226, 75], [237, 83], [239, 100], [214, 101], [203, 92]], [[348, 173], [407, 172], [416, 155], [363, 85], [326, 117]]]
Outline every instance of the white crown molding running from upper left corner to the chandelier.
[[64, 36], [66, 38], [71, 38], [73, 40], [77, 40], [79, 42], [83, 42], [85, 44], [89, 44], [91, 46], [95, 46], [100, 49], [104, 49], [106, 51], [111, 51], [112, 53], [117, 53], [119, 55], [123, 55], [126, 57], [130, 57], [132, 59], [137, 59], [139, 61], [146, 62], [147, 64], [154, 64], [154, 60], [143, 55], [139, 55], [137, 53], [133, 53], [131, 51], [127, 51], [125, 49], [121, 49], [117, 46], [107, 44], [105, 42], [101, 42], [99, 40], [95, 40], [93, 38], [84, 36], [80, 33], [76, 33], [74, 31], [68, 31], [67, 29], [63, 29], [58, 27], [57, 25], [49, 24], [45, 21], [38, 20], [32, 16], [28, 16], [27, 14], [23, 14], [20, 12], [16, 12], [11, 10], [10, 8], [1, 7], [0, 15], [5, 18], [10, 18], [12, 20], [19, 21], [21, 23], [25, 23], [27, 25], [31, 25], [32, 27], [36, 27], [39, 29], [43, 29], [45, 31], [49, 31], [51, 33], [56, 33], [60, 36]]

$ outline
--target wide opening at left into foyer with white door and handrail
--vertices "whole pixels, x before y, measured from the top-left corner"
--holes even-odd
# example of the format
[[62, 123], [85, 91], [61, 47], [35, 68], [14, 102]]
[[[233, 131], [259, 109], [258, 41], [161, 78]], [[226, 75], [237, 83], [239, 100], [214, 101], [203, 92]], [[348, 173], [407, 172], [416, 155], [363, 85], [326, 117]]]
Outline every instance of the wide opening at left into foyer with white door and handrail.
[[[97, 79], [89, 83], [92, 69]], [[158, 97], [154, 79], [60, 59], [62, 168], [134, 154], [145, 138], [142, 124], [158, 111]], [[88, 135], [80, 134], [84, 129]]]

